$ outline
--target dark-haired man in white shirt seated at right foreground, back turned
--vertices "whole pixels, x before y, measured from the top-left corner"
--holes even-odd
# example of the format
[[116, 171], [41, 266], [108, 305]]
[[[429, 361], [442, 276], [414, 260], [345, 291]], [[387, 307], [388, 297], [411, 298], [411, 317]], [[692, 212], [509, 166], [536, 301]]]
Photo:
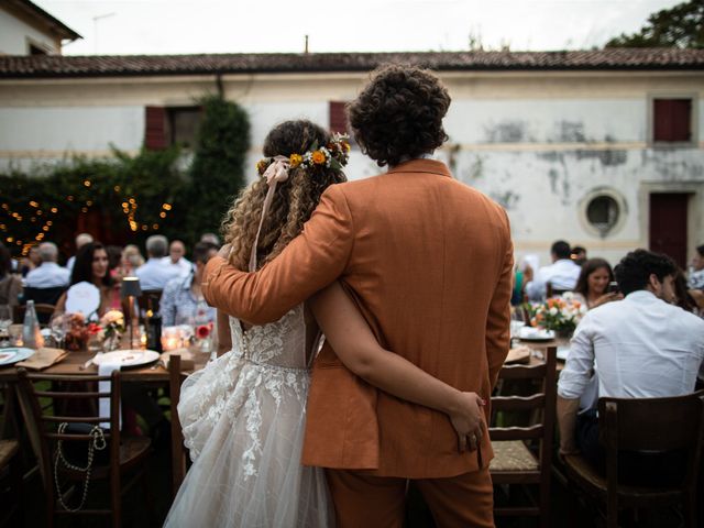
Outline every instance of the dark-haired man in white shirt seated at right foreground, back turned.
[[603, 459], [598, 418], [593, 409], [578, 416], [592, 370], [600, 396], [651, 398], [693, 392], [704, 362], [704, 320], [669, 304], [676, 273], [672, 260], [636, 250], [614, 273], [626, 298], [584, 316], [558, 384], [560, 451], [579, 450], [594, 465]]

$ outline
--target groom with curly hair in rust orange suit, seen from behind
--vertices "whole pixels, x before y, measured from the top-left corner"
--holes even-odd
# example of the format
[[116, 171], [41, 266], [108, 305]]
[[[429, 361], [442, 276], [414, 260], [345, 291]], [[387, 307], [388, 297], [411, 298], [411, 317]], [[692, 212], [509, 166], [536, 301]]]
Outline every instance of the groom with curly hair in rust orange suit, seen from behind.
[[[258, 272], [212, 258], [206, 299], [261, 324], [340, 280], [384, 348], [488, 400], [508, 352], [513, 244], [505, 211], [431, 157], [448, 139], [449, 106], [427, 70], [376, 70], [349, 117], [388, 170], [328, 188], [302, 233]], [[307, 409], [302, 463], [328, 469], [338, 526], [400, 527], [409, 479], [439, 526], [494, 526], [487, 435], [461, 452], [446, 415], [371, 387], [328, 343]]]

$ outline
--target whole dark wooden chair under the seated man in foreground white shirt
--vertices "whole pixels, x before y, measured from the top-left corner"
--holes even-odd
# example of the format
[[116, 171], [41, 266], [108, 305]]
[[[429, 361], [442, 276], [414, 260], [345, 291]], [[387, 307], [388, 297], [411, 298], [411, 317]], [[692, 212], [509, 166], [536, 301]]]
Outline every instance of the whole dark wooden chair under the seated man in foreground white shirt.
[[[571, 485], [606, 504], [606, 525], [618, 526], [620, 508], [684, 505], [685, 525], [696, 526], [696, 483], [704, 449], [704, 391], [670, 398], [600, 398], [600, 443], [606, 450], [606, 476], [579, 454], [564, 457]], [[686, 473], [680, 485], [635, 486], [618, 473], [623, 451], [682, 450]], [[700, 492], [701, 499], [701, 492]]]

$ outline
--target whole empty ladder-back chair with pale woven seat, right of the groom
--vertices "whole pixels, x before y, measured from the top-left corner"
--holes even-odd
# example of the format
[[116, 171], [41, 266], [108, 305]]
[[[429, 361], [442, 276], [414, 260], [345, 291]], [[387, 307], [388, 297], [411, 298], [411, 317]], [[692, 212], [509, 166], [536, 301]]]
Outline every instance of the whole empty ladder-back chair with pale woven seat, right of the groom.
[[[556, 354], [557, 348], [546, 350], [546, 361], [528, 365], [505, 365], [499, 380], [521, 380], [538, 386], [527, 396], [497, 395], [492, 397], [492, 416], [499, 413], [521, 413], [528, 416], [526, 427], [499, 427], [492, 420], [490, 437], [494, 459], [490, 464], [495, 485], [538, 486], [539, 497], [527, 493], [529, 505], [495, 507], [498, 516], [539, 516], [541, 527], [550, 520], [550, 471], [556, 417]], [[528, 490], [527, 490], [528, 491]]]

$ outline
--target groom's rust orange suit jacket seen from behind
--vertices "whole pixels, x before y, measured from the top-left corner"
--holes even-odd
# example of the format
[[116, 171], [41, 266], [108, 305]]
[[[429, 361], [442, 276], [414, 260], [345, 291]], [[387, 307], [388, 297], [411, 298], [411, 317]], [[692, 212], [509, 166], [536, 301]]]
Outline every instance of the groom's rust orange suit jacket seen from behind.
[[[327, 189], [302, 233], [257, 273], [212, 258], [204, 294], [261, 324], [340, 279], [383, 346], [488, 400], [508, 352], [512, 271], [506, 212], [443, 163], [414, 160]], [[304, 464], [444, 477], [488, 464], [488, 436], [480, 452], [458, 452], [442, 413], [377, 391], [321, 350]]]

